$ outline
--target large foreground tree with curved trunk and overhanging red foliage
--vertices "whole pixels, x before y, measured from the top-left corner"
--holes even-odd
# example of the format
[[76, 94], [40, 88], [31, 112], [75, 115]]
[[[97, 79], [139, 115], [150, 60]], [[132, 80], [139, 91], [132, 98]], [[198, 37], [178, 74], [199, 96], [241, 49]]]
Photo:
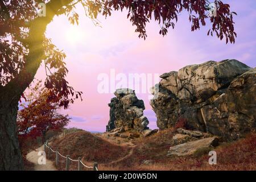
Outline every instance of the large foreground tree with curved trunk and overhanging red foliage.
[[[127, 9], [127, 18], [136, 27], [140, 38], [146, 38], [146, 23], [153, 17], [160, 24], [160, 34], [166, 35], [169, 27], [174, 28], [178, 14], [187, 11], [192, 31], [205, 26], [209, 19], [212, 27], [208, 34], [226, 38], [234, 43], [236, 32], [233, 14], [229, 5], [214, 1], [216, 16], [208, 16], [209, 2], [206, 0], [11, 0], [0, 1], [0, 170], [23, 169], [18, 138], [16, 115], [18, 101], [24, 90], [33, 81], [40, 64], [46, 67], [44, 83], [50, 90], [48, 99], [59, 98], [60, 106], [67, 108], [76, 92], [65, 76], [65, 53], [57, 49], [44, 36], [47, 25], [55, 15], [65, 14], [71, 23], [78, 23], [75, 12], [77, 3], [85, 9], [85, 15], [97, 23], [97, 15], [110, 16], [112, 10]], [[38, 16], [38, 3], [46, 3], [46, 16]]]

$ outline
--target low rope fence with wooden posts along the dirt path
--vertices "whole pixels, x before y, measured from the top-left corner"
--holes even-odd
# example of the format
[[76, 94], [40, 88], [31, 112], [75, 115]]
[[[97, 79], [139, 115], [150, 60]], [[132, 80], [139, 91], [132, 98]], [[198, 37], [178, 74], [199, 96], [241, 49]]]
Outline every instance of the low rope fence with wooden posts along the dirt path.
[[89, 166], [86, 166], [84, 163], [82, 163], [81, 158], [78, 158], [78, 160], [74, 160], [74, 159], [69, 158], [69, 155], [63, 156], [63, 155], [60, 154], [60, 152], [58, 152], [57, 150], [54, 151], [54, 150], [52, 150], [52, 148], [50, 146], [48, 146], [48, 140], [46, 141], [46, 143], [44, 143], [44, 151], [45, 152], [46, 152], [46, 148], [48, 148], [48, 159], [49, 159], [49, 157], [51, 155], [51, 152], [56, 154], [56, 158], [55, 158], [56, 166], [59, 165], [59, 156], [61, 156], [62, 158], [66, 159], [66, 167], [65, 167], [66, 171], [69, 171], [69, 163], [70, 163], [70, 161], [78, 162], [77, 171], [81, 171], [82, 166], [84, 166], [86, 168], [92, 168], [93, 171], [98, 171], [98, 163], [93, 163], [93, 167], [89, 167]]

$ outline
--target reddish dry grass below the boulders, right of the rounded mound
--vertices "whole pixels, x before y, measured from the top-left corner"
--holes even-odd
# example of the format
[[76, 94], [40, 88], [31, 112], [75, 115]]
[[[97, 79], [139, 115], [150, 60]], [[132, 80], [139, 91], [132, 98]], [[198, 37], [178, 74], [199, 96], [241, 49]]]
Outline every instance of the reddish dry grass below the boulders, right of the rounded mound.
[[[256, 170], [256, 134], [247, 135], [237, 142], [222, 144], [215, 148], [217, 165], [208, 163], [209, 156], [166, 156], [172, 131], [163, 131], [147, 138], [135, 149], [130, 159], [119, 163], [122, 170]], [[168, 138], [166, 138], [168, 137]], [[142, 165], [143, 160], [151, 159], [153, 164]], [[116, 167], [117, 168], [117, 167]], [[110, 168], [111, 169], [111, 168]]]

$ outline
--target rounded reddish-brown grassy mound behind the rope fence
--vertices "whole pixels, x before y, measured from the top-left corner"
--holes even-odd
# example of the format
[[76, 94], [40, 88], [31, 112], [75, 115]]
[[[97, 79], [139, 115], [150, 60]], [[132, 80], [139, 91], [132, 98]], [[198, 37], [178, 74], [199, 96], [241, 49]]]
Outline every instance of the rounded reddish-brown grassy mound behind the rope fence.
[[[53, 150], [58, 150], [64, 156], [70, 155], [71, 159], [77, 160], [81, 157], [82, 162], [88, 166], [92, 166], [93, 162], [101, 164], [112, 162], [129, 152], [128, 147], [115, 145], [87, 131], [67, 134], [63, 138], [53, 140], [51, 146]], [[53, 160], [55, 156], [51, 158]], [[64, 169], [65, 159], [60, 160], [60, 163], [59, 169]], [[71, 162], [71, 169], [77, 169], [77, 162]]]

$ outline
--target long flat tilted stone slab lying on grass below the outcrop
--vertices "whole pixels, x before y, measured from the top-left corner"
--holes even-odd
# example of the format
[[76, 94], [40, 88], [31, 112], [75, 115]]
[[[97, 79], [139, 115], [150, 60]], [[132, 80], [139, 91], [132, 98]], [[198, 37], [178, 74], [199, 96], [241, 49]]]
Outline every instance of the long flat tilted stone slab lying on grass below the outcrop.
[[216, 137], [204, 138], [192, 142], [179, 144], [177, 146], [170, 147], [167, 156], [186, 156], [192, 155], [197, 150], [207, 147], [216, 147], [218, 145], [218, 139]]

